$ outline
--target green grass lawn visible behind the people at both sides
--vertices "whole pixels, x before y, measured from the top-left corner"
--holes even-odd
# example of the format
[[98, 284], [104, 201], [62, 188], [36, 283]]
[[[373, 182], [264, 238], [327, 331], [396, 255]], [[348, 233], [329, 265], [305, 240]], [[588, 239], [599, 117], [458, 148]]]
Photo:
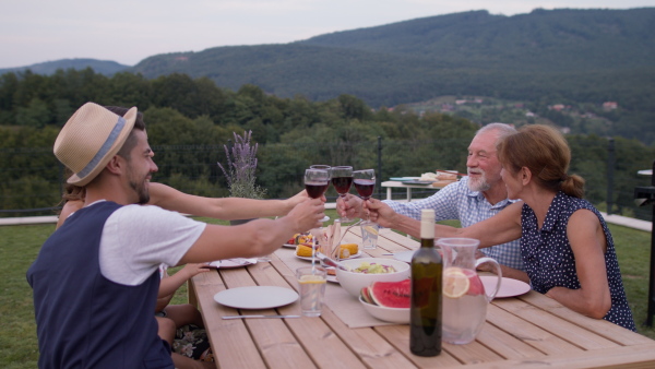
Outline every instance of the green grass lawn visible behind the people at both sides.
[[[335, 217], [334, 211], [326, 213]], [[647, 308], [651, 234], [615, 225], [610, 225], [610, 229], [639, 333], [655, 338], [655, 329], [643, 325]], [[0, 226], [0, 368], [37, 367], [32, 289], [25, 272], [53, 230], [55, 225]], [[182, 287], [172, 303], [184, 302], [186, 298], [186, 287]]]

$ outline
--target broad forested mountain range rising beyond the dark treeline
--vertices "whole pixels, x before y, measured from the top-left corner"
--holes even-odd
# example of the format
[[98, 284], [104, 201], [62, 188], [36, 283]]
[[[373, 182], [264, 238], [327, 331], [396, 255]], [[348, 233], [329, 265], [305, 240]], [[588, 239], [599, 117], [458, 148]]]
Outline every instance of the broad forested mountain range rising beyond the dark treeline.
[[153, 56], [147, 78], [186, 73], [282, 97], [353, 94], [372, 107], [441, 95], [651, 103], [655, 8], [472, 11], [337, 32], [284, 45], [216, 47]]

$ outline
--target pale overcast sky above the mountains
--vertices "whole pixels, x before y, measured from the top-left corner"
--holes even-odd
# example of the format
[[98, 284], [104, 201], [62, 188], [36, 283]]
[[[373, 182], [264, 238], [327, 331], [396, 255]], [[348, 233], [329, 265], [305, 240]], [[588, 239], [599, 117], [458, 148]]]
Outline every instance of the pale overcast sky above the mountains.
[[286, 44], [336, 31], [488, 10], [630, 9], [655, 0], [0, 0], [0, 68]]

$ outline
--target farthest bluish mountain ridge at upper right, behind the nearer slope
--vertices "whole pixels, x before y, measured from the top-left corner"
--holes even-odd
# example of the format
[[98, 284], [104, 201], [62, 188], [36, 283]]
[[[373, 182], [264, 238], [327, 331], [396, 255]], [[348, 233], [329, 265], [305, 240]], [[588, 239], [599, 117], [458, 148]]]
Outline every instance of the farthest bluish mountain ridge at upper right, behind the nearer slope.
[[301, 44], [412, 55], [453, 68], [622, 70], [653, 64], [654, 33], [655, 8], [535, 10], [514, 16], [472, 11], [338, 32]]

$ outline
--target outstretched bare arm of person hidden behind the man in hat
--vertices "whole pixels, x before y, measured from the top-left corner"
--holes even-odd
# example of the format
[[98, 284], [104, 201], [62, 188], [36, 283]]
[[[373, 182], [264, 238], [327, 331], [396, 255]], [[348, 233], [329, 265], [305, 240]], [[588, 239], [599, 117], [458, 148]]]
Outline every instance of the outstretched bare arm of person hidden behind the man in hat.
[[162, 183], [151, 183], [150, 193], [151, 205], [182, 214], [226, 221], [286, 215], [294, 206], [308, 199], [305, 190], [286, 200], [203, 198], [180, 192]]

